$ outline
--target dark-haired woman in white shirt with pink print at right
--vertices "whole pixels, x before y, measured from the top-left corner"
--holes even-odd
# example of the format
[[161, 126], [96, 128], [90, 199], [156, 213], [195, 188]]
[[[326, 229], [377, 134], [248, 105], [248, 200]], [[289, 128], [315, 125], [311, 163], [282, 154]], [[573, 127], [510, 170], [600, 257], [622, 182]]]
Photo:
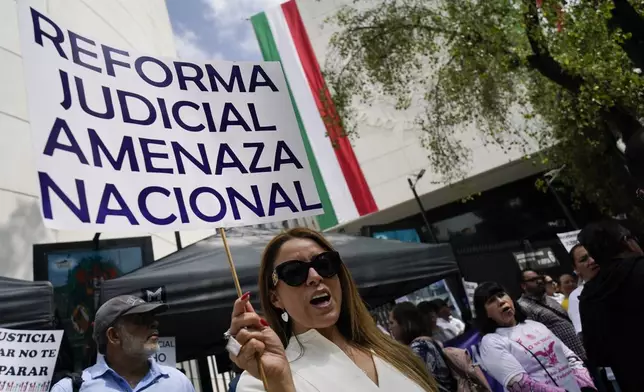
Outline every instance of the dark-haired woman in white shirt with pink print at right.
[[580, 392], [595, 386], [583, 362], [543, 324], [526, 315], [506, 290], [486, 282], [474, 292], [484, 335], [481, 365], [510, 392]]

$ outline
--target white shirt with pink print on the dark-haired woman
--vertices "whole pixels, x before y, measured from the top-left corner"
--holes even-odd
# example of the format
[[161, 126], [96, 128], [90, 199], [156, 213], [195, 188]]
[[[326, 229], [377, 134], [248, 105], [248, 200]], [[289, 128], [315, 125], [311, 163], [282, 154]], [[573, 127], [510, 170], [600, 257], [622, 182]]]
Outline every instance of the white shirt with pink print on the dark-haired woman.
[[514, 377], [527, 373], [535, 381], [554, 385], [552, 377], [566, 391], [580, 391], [573, 369], [583, 367], [581, 360], [541, 323], [526, 320], [497, 328], [483, 337], [479, 350], [483, 368], [506, 390]]

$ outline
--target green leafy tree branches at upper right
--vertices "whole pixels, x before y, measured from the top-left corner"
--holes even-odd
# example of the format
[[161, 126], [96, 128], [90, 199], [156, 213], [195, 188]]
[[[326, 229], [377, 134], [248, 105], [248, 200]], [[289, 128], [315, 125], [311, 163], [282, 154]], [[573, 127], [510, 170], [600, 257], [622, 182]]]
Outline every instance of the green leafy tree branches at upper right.
[[[348, 133], [358, 104], [390, 96], [424, 107], [421, 143], [444, 182], [471, 165], [463, 130], [504, 151], [542, 151], [560, 178], [610, 210], [614, 109], [644, 114], [644, 78], [609, 0], [357, 1], [328, 20], [325, 77]], [[641, 1], [633, 1], [638, 12]], [[641, 14], [636, 15], [641, 18]], [[423, 97], [413, 100], [413, 97]]]

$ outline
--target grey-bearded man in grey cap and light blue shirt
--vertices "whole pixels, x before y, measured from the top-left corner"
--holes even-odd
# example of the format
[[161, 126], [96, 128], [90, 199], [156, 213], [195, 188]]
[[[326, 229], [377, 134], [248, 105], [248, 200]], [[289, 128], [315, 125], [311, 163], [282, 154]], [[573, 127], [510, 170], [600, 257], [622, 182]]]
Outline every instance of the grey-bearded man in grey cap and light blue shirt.
[[[150, 358], [159, 350], [155, 316], [167, 309], [122, 295], [105, 302], [96, 312], [94, 341], [99, 355], [96, 365], [83, 371], [83, 392], [194, 392], [179, 370], [157, 364]], [[72, 392], [72, 380], [63, 379], [51, 392]]]

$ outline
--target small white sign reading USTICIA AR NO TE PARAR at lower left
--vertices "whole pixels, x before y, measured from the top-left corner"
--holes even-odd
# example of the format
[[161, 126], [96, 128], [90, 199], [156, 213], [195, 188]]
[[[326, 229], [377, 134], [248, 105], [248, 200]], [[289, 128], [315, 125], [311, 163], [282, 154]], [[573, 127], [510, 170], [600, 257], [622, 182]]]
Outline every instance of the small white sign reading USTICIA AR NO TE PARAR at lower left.
[[0, 391], [49, 391], [63, 331], [0, 328]]

